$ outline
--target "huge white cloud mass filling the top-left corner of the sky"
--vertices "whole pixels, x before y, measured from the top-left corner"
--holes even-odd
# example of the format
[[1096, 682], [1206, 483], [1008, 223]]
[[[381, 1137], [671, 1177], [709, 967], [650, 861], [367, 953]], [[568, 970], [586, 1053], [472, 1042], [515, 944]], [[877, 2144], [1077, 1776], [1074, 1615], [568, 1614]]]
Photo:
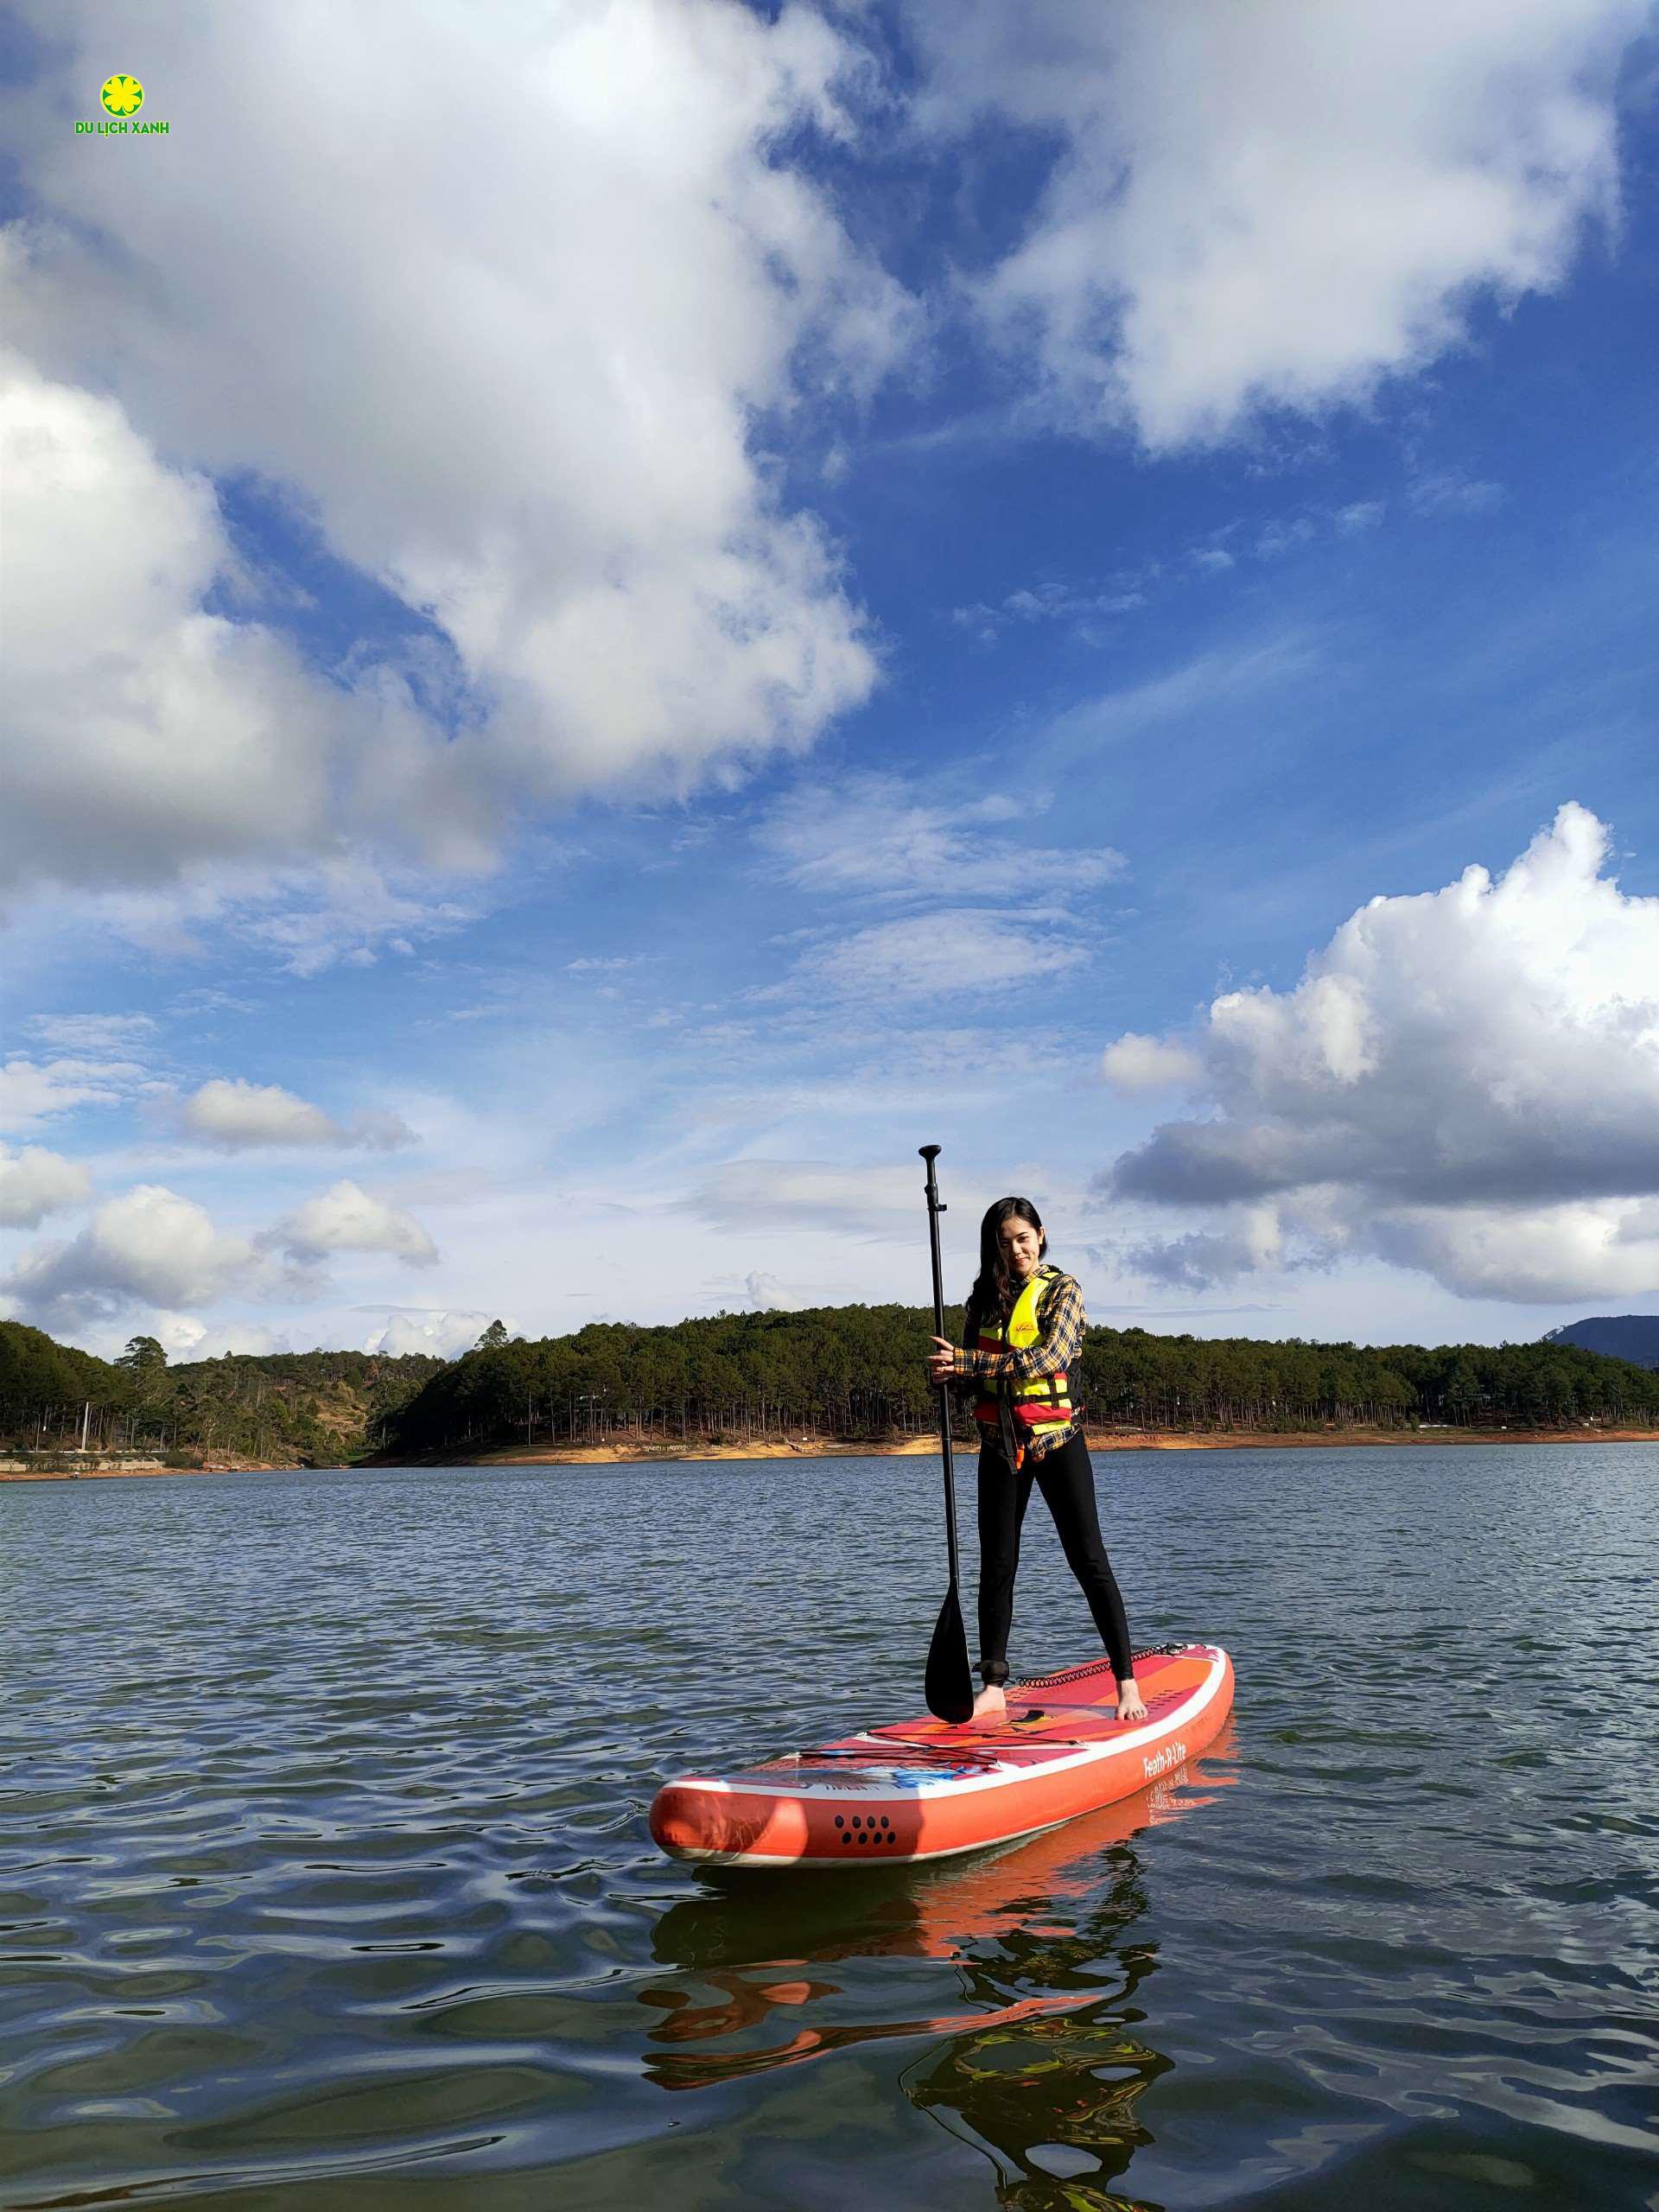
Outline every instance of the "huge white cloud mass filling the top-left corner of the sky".
[[[869, 389], [909, 316], [779, 155], [847, 128], [865, 66], [818, 11], [445, 0], [396, 69], [349, 13], [24, 15], [18, 874], [168, 880], [354, 834], [460, 865], [524, 799], [684, 787], [865, 697], [836, 551], [757, 447], [803, 396]], [[64, 128], [122, 22], [190, 115], [190, 161], [142, 192]], [[272, 82], [305, 97], [248, 131]], [[325, 681], [226, 615], [250, 580], [192, 471], [281, 487], [425, 644]]]

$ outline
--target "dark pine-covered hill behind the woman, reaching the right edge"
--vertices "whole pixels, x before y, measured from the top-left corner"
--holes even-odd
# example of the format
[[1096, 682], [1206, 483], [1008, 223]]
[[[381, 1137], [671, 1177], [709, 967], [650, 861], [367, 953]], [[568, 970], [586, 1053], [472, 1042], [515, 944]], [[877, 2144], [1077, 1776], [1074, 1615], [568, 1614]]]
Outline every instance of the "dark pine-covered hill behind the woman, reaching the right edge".
[[[914, 1436], [933, 1422], [931, 1329], [931, 1312], [905, 1305], [595, 1323], [540, 1343], [498, 1327], [392, 1418], [387, 1449]], [[1659, 1376], [1553, 1343], [1365, 1349], [1091, 1329], [1082, 1398], [1093, 1427], [1659, 1422]]]

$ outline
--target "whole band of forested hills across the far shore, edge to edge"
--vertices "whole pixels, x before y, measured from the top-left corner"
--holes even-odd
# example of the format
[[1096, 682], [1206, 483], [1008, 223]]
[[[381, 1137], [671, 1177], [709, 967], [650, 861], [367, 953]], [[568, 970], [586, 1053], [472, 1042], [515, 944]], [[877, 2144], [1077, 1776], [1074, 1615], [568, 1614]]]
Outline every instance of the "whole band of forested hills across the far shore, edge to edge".
[[[960, 1332], [960, 1310], [947, 1314]], [[336, 1464], [491, 1444], [697, 1444], [931, 1431], [927, 1307], [595, 1323], [538, 1343], [495, 1323], [445, 1363], [281, 1352], [168, 1365], [135, 1336], [119, 1360], [0, 1321], [0, 1442], [11, 1449], [228, 1453]], [[1321, 1429], [1418, 1422], [1659, 1425], [1659, 1374], [1577, 1345], [1310, 1345], [1091, 1329], [1091, 1427]], [[969, 1427], [969, 1405], [958, 1405]]]

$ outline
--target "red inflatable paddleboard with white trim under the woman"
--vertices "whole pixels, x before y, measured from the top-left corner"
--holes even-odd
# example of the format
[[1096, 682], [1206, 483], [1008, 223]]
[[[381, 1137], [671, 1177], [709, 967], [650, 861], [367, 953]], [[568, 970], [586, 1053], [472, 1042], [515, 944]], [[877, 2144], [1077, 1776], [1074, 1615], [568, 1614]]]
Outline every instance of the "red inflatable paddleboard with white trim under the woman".
[[1214, 1644], [1135, 1655], [1144, 1721], [1119, 1721], [1104, 1659], [1009, 1686], [995, 1728], [931, 1717], [865, 1728], [734, 1774], [681, 1774], [650, 1807], [672, 1858], [867, 1867], [951, 1858], [1113, 1805], [1197, 1759], [1232, 1712]]

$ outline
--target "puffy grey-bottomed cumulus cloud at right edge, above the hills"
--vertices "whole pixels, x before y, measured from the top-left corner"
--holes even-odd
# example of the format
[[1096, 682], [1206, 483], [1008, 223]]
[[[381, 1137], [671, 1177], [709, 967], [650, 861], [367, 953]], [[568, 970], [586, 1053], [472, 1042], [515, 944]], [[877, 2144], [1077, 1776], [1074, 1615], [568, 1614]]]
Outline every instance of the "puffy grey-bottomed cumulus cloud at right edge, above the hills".
[[[1217, 998], [1168, 1046], [1194, 1057], [1201, 1113], [1124, 1152], [1108, 1188], [1221, 1208], [1221, 1241], [1148, 1245], [1146, 1272], [1363, 1250], [1469, 1296], [1652, 1290], [1659, 898], [1624, 894], [1606, 858], [1606, 827], [1564, 805], [1495, 880], [1378, 896], [1292, 991]], [[1113, 1053], [1135, 1068], [1148, 1042]]]

